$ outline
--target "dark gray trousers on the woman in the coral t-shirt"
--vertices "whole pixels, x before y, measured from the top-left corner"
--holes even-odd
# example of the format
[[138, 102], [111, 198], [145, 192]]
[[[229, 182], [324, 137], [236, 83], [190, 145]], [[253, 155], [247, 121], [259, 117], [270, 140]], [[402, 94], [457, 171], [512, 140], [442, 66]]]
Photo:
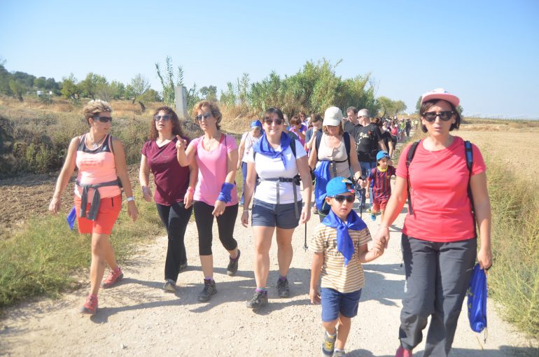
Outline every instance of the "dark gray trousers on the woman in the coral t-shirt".
[[406, 283], [400, 344], [405, 349], [417, 346], [431, 316], [423, 356], [447, 356], [472, 276], [477, 239], [437, 243], [402, 235], [401, 243]]

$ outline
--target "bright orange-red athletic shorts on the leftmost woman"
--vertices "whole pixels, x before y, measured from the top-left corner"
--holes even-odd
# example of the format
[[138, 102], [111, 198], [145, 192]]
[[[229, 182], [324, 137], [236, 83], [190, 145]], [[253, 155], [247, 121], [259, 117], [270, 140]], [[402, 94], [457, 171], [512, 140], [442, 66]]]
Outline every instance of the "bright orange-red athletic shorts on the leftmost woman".
[[[90, 208], [87, 204], [86, 211]], [[87, 218], [80, 218], [80, 197], [75, 196], [75, 209], [77, 211], [78, 232], [83, 234], [99, 233], [110, 235], [118, 215], [122, 210], [122, 195], [116, 197], [106, 197], [101, 199], [99, 211], [95, 221]]]

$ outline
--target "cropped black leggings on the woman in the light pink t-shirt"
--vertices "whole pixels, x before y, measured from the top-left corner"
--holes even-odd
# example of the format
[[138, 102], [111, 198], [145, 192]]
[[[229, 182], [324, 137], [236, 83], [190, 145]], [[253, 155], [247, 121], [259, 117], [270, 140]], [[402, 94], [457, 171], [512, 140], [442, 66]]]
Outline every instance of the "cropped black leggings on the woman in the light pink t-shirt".
[[[214, 235], [211, 229], [214, 227], [214, 206], [202, 201], [195, 201], [193, 204], [195, 210], [195, 222], [198, 230], [198, 253], [200, 255], [211, 255], [211, 241]], [[238, 215], [238, 204], [227, 206], [221, 216], [217, 217], [217, 228], [219, 231], [219, 240], [227, 251], [233, 251], [238, 246], [234, 239], [234, 225]]]

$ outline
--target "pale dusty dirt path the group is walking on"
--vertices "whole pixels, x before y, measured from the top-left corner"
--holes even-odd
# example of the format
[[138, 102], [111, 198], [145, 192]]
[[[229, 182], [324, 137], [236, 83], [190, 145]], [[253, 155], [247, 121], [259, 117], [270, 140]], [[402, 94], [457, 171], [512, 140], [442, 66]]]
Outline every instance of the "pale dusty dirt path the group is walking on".
[[[404, 288], [400, 266], [400, 230], [404, 214], [391, 228], [386, 253], [364, 266], [366, 285], [358, 316], [346, 344], [347, 356], [393, 356]], [[372, 235], [377, 232], [363, 214]], [[311, 236], [318, 216], [307, 223]], [[179, 276], [179, 292], [162, 290], [167, 238], [141, 246], [123, 266], [125, 278], [99, 294], [99, 311], [92, 318], [78, 314], [89, 286], [59, 300], [43, 299], [13, 307], [0, 321], [0, 356], [319, 356], [323, 329], [321, 307], [308, 300], [311, 253], [304, 251], [305, 227], [293, 237], [295, 255], [288, 276], [292, 297], [279, 299], [276, 244], [270, 252], [269, 305], [254, 313], [245, 302], [255, 287], [253, 235], [237, 219], [235, 237], [241, 249], [237, 276], [226, 275], [228, 256], [214, 239], [218, 293], [208, 303], [197, 301], [202, 271], [197, 256], [197, 232], [186, 232], [189, 267]], [[216, 236], [216, 225], [214, 225]], [[494, 267], [496, 269], [496, 267]], [[472, 332], [463, 309], [451, 356], [539, 356], [537, 342], [514, 332], [500, 320], [489, 300], [489, 336]], [[421, 356], [423, 344], [416, 351]]]

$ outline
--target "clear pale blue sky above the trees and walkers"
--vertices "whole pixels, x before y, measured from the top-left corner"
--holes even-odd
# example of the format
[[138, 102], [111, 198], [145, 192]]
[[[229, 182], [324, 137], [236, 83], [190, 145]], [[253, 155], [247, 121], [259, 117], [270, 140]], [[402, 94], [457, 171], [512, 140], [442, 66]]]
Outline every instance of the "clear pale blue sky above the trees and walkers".
[[444, 87], [465, 114], [539, 117], [539, 1], [24, 1], [0, 3], [9, 71], [79, 80], [92, 71], [160, 90], [172, 57], [188, 87], [224, 89], [329, 59], [403, 100]]

